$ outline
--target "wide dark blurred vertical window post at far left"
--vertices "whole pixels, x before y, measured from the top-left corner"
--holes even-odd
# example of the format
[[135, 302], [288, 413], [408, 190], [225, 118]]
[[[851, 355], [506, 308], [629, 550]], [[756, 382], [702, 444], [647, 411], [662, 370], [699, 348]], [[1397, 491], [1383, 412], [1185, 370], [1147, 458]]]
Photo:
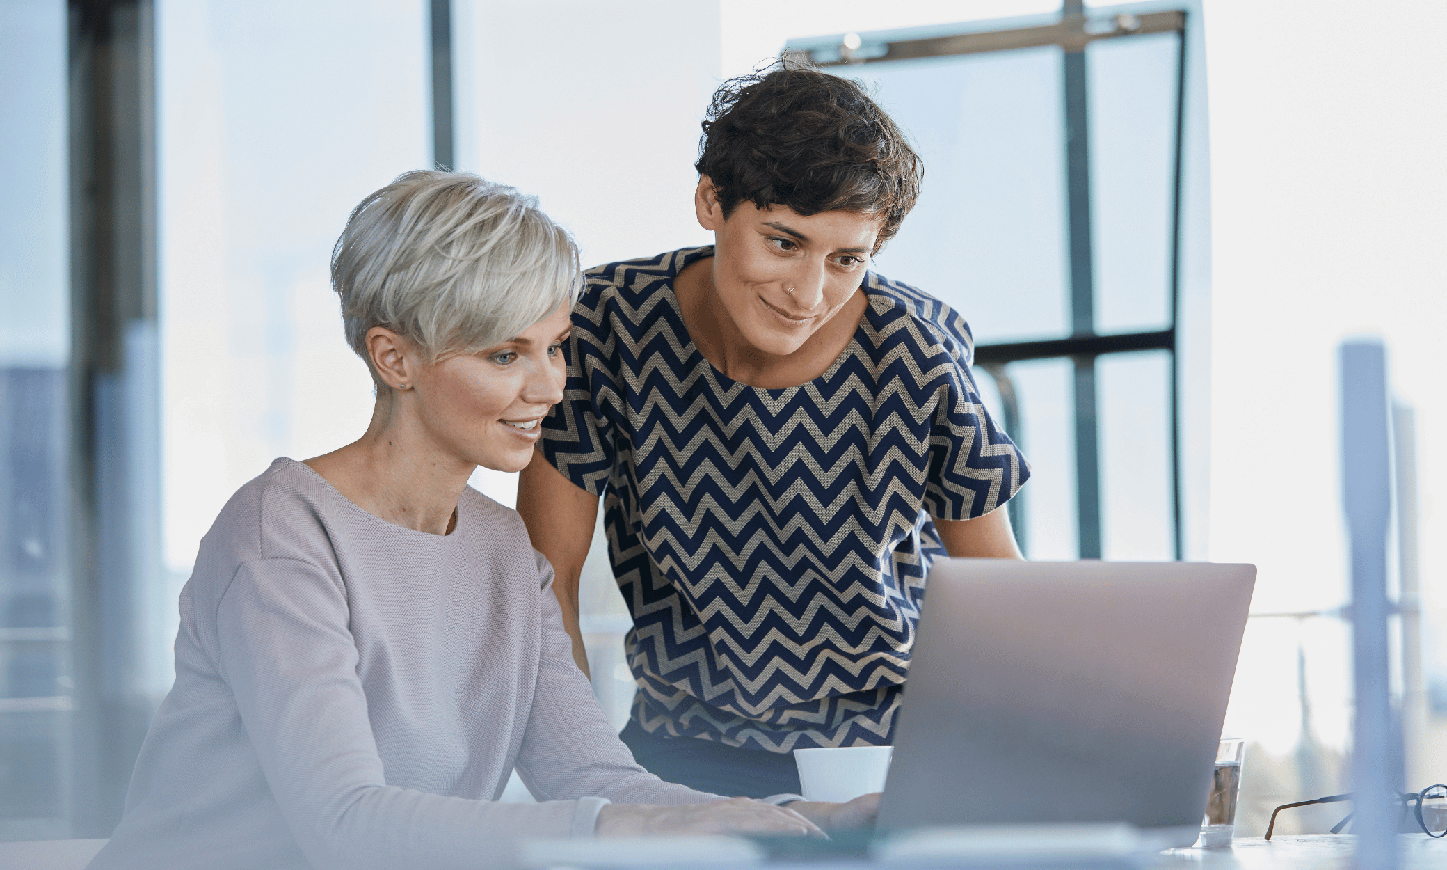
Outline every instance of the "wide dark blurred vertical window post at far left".
[[[71, 837], [120, 819], [159, 576], [152, 0], [69, 0]], [[148, 436], [149, 433], [149, 436]]]

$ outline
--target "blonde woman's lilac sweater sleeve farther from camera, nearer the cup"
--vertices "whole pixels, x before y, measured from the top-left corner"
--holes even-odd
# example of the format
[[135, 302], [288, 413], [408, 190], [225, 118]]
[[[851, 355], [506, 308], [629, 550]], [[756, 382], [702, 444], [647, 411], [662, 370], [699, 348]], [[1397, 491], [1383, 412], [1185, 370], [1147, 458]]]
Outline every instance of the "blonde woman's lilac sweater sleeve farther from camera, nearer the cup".
[[[517, 770], [538, 801], [598, 795], [615, 803], [708, 803], [719, 795], [664, 782], [634, 761], [573, 662], [573, 641], [553, 595], [553, 566], [538, 562], [543, 644], [538, 685]], [[596, 809], [593, 811], [596, 816]]]

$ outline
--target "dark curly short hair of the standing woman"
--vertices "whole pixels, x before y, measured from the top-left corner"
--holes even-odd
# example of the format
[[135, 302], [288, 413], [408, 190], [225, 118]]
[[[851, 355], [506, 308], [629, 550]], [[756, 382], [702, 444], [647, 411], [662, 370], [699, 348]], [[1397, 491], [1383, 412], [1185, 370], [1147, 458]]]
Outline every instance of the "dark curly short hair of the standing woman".
[[884, 217], [875, 250], [919, 198], [923, 166], [857, 83], [794, 61], [725, 81], [709, 104], [695, 168], [726, 219], [739, 203], [799, 214]]

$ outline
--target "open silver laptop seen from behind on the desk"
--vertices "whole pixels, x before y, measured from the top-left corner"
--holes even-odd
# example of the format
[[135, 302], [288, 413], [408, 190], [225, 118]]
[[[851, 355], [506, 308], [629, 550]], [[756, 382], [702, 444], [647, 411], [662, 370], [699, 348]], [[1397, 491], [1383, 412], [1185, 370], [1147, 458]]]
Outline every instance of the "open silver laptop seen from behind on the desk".
[[929, 573], [880, 827], [1200, 832], [1256, 566], [946, 559]]

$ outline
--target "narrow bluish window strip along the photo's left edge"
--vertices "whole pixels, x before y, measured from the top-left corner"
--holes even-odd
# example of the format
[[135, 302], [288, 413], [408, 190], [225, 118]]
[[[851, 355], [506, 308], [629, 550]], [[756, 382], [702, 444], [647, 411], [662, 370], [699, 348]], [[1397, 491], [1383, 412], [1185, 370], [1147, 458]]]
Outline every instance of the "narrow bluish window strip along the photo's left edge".
[[65, 4], [0, 16], [0, 840], [25, 840], [69, 815]]

